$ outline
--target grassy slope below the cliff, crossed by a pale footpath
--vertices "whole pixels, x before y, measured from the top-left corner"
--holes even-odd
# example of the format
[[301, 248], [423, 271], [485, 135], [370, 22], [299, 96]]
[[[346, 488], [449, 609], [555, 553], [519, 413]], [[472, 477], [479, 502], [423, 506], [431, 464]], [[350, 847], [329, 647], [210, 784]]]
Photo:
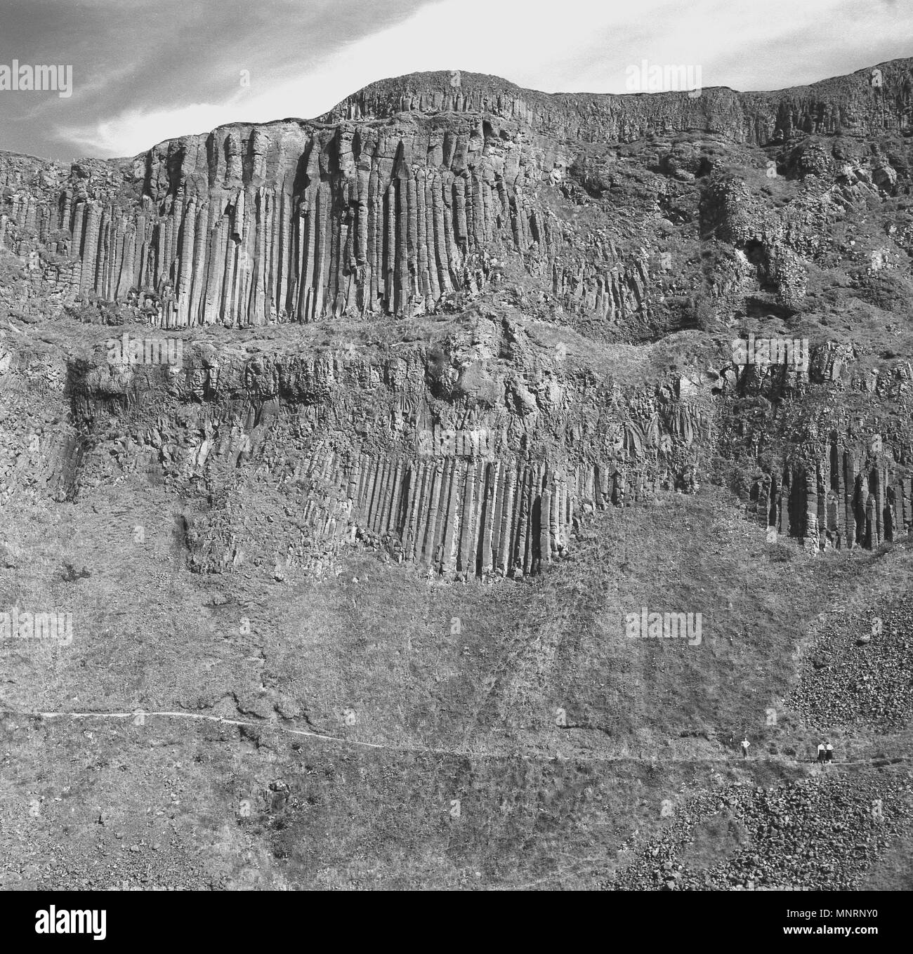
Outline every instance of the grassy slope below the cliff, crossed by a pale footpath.
[[[841, 602], [868, 611], [864, 594], [910, 560], [769, 545], [705, 487], [598, 514], [578, 558], [532, 584], [429, 585], [358, 551], [322, 583], [280, 584], [271, 568], [209, 581], [179, 569], [156, 487], [102, 499], [59, 521], [36, 506], [15, 525], [31, 569], [15, 590], [0, 571], [3, 602], [51, 594], [72, 607], [75, 636], [4, 646], [4, 702], [258, 724], [7, 717], [8, 886], [591, 886], [633, 831], [665, 823], [664, 800], [810, 770], [797, 758], [815, 737], [782, 704], [803, 634]], [[160, 529], [140, 547], [136, 524]], [[55, 581], [63, 561], [92, 575]], [[702, 612], [701, 645], [626, 639], [623, 613], [641, 605]], [[748, 764], [728, 742], [743, 731]], [[832, 735], [847, 757], [883, 744]], [[909, 751], [907, 736], [892, 751]], [[903, 853], [876, 885], [893, 883], [892, 864]]]

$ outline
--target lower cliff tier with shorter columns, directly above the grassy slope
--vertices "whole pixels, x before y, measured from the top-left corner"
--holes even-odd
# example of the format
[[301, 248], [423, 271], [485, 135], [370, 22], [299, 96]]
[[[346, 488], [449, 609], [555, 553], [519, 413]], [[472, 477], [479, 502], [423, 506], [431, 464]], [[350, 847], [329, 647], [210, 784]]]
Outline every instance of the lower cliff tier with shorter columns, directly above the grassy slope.
[[[913, 530], [908, 364], [872, 377], [843, 354], [838, 372], [825, 344], [807, 370], [760, 373], [696, 333], [650, 347], [564, 333], [559, 348], [557, 329], [507, 312], [419, 343], [350, 329], [341, 349], [318, 328], [244, 346], [185, 332], [174, 365], [111, 360], [118, 339], [64, 361], [5, 333], [0, 501], [164, 483], [203, 572], [320, 575], [366, 545], [448, 579], [525, 576], [570, 557], [594, 511], [707, 482], [742, 493], [772, 542], [870, 550]], [[69, 413], [36, 416], [55, 393]]]

